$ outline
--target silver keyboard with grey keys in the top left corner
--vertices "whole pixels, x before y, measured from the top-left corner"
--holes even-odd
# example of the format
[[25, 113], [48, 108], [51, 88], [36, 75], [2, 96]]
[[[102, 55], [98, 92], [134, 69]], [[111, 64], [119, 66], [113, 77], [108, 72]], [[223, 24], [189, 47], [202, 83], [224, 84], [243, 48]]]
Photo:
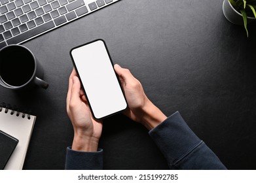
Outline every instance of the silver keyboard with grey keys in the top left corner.
[[120, 0], [0, 0], [0, 49], [20, 44]]

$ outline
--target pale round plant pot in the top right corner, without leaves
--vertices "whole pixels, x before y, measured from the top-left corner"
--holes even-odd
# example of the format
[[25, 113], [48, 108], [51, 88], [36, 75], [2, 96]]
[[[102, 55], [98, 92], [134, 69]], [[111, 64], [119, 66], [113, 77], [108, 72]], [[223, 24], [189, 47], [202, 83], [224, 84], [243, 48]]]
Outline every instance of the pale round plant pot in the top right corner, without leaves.
[[[236, 11], [235, 8], [230, 4], [229, 0], [223, 1], [223, 14], [229, 20], [229, 22], [236, 25], [244, 25], [242, 14]], [[256, 20], [256, 18], [247, 16], [247, 23]]]

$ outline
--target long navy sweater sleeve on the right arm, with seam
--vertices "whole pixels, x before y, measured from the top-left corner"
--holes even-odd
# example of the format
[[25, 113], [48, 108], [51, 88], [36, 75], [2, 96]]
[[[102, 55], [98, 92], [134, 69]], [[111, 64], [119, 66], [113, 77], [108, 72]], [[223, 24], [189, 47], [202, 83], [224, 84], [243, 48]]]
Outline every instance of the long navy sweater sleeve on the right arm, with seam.
[[149, 131], [170, 169], [226, 169], [185, 123], [179, 112]]

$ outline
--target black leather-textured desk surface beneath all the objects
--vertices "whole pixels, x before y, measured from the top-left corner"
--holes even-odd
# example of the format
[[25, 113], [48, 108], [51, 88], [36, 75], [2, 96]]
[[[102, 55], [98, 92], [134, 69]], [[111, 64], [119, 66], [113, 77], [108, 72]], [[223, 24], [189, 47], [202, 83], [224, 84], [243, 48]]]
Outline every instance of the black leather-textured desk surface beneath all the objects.
[[[223, 0], [122, 0], [24, 43], [45, 69], [48, 90], [0, 89], [0, 101], [37, 116], [24, 169], [64, 169], [73, 128], [65, 110], [69, 50], [102, 38], [167, 116], [179, 110], [228, 169], [256, 169], [256, 26], [230, 24]], [[172, 133], [172, 131], [170, 131]], [[142, 125], [104, 121], [104, 169], [167, 169]]]

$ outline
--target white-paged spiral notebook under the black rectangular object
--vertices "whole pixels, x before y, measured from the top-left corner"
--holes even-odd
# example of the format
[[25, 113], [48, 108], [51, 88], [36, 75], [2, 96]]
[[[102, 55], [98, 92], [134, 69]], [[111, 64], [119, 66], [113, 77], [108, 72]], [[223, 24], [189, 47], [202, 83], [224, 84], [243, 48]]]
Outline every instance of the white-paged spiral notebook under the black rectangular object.
[[36, 116], [30, 115], [28, 112], [19, 112], [17, 108], [10, 105], [0, 104], [1, 131], [8, 133], [19, 141], [7, 165], [5, 165], [5, 170], [22, 169], [35, 119]]

